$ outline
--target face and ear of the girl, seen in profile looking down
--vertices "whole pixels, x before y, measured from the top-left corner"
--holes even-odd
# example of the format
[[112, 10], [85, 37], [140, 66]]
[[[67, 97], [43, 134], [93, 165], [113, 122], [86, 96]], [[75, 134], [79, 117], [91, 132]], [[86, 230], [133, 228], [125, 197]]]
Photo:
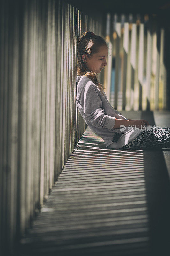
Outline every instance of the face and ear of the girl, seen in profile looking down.
[[94, 53], [91, 59], [86, 55], [82, 55], [82, 60], [86, 63], [90, 71], [100, 73], [101, 70], [107, 65], [106, 58], [108, 56], [108, 47], [100, 46], [99, 52]]

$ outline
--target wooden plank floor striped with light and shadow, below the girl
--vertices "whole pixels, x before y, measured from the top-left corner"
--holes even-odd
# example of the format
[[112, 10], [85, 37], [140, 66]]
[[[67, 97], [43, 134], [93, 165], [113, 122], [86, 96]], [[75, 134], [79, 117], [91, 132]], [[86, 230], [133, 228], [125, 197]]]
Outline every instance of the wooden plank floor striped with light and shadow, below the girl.
[[162, 151], [107, 149], [87, 128], [16, 254], [167, 255], [169, 202]]

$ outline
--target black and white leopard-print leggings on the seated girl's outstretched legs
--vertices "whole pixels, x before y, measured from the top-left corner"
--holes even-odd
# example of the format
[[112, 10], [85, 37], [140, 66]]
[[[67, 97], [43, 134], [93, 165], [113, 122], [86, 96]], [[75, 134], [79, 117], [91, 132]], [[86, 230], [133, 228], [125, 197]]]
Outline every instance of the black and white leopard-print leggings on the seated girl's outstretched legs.
[[170, 148], [170, 127], [149, 128], [120, 149]]

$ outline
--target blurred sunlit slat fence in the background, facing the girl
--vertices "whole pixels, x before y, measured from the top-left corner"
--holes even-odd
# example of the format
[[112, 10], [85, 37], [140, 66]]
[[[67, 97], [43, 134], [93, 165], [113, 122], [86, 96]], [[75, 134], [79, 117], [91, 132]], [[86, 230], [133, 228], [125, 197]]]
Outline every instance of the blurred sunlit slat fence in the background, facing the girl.
[[[107, 40], [115, 59], [114, 91], [106, 89], [110, 103], [119, 111], [168, 109], [166, 24], [160, 25], [152, 15], [132, 14], [112, 14], [109, 22], [113, 26], [107, 25]], [[105, 79], [106, 88], [108, 83]]]

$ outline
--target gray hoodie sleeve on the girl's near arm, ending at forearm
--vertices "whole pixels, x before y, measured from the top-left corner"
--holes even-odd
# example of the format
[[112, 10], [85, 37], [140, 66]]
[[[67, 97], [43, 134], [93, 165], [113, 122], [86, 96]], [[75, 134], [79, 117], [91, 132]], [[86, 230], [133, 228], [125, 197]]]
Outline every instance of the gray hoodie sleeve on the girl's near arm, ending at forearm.
[[85, 116], [93, 126], [110, 130], [114, 127], [115, 117], [105, 114], [102, 101], [91, 82], [86, 84], [79, 98]]

